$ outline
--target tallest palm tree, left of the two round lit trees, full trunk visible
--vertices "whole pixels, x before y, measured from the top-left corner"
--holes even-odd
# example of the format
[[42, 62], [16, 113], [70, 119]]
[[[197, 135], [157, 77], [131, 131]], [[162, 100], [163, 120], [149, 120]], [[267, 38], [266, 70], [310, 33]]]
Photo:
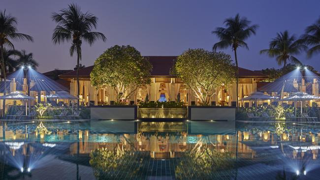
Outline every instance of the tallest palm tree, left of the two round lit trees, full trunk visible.
[[73, 53], [77, 54], [77, 97], [79, 97], [79, 61], [82, 57], [82, 40], [91, 46], [98, 39], [105, 42], [106, 37], [101, 32], [92, 31], [96, 29], [98, 18], [89, 12], [83, 13], [80, 7], [73, 3], [68, 5], [68, 8], [60, 10], [59, 13], [53, 13], [51, 18], [57, 23], [57, 27], [52, 34], [53, 43], [71, 42], [70, 56], [72, 57]]

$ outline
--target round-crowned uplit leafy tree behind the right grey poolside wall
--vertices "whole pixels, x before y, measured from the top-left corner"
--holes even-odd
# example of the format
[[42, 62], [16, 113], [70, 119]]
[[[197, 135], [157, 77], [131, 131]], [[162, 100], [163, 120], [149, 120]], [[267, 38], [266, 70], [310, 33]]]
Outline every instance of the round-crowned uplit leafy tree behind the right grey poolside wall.
[[189, 49], [178, 56], [171, 73], [182, 79], [200, 104], [209, 105], [219, 87], [233, 82], [235, 68], [229, 55]]

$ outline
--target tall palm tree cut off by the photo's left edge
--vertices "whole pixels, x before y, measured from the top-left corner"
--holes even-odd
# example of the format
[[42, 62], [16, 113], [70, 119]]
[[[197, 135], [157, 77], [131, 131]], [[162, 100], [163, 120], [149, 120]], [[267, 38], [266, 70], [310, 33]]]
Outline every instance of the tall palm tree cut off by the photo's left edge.
[[[29, 40], [33, 41], [32, 37], [27, 34], [18, 33], [17, 19], [10, 14], [6, 14], [5, 10], [0, 11], [0, 58], [1, 58], [1, 73], [4, 79], [4, 95], [6, 94], [6, 76], [4, 63], [4, 46], [14, 49], [11, 40]], [[5, 100], [3, 100], [3, 115], [5, 112]]]

